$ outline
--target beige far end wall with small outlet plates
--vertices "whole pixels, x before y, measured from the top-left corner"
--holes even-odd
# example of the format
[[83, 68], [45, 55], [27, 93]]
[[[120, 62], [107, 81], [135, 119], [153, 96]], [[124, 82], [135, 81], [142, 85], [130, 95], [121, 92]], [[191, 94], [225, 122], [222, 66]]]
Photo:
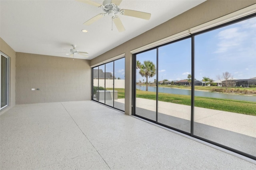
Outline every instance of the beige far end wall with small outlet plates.
[[16, 104], [90, 100], [89, 63], [84, 59], [17, 52]]

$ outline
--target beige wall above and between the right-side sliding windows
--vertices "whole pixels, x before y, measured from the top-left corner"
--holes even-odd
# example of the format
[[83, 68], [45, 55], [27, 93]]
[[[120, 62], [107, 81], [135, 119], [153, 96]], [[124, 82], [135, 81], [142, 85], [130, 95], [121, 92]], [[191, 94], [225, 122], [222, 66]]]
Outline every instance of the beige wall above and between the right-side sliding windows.
[[207, 0], [206, 2], [168, 20], [91, 60], [91, 65], [125, 53], [125, 113], [131, 115], [132, 105], [132, 55], [130, 51], [156, 42], [252, 4], [255, 0]]

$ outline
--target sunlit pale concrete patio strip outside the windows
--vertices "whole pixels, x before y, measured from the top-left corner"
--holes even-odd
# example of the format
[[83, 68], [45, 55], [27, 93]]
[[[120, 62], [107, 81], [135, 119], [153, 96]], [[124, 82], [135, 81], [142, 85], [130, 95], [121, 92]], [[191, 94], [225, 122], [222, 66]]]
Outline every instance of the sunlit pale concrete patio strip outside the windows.
[[[118, 99], [123, 103], [123, 99]], [[156, 101], [150, 99], [136, 98], [136, 107], [149, 111], [156, 111]], [[158, 113], [185, 119], [190, 121], [190, 106], [158, 101]], [[256, 116], [244, 115], [195, 107], [194, 120], [197, 123], [230, 130], [256, 138]]]

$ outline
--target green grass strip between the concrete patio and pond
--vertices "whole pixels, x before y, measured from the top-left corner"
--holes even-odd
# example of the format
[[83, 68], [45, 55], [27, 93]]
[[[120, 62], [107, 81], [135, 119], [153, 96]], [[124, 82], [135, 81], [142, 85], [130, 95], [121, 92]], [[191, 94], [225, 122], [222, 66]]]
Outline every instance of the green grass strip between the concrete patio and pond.
[[[110, 89], [107, 89], [110, 90]], [[124, 98], [124, 89], [115, 89], [118, 91], [118, 99]], [[136, 91], [136, 97], [143, 99], [156, 100], [156, 93], [150, 91]], [[168, 93], [159, 93], [159, 101], [177, 103], [181, 105], [191, 105], [191, 97], [188, 95], [175, 95]], [[209, 97], [195, 97], [195, 106], [220, 111], [242, 113], [256, 116], [256, 103], [250, 101], [238, 101], [231, 99], [216, 99]]]

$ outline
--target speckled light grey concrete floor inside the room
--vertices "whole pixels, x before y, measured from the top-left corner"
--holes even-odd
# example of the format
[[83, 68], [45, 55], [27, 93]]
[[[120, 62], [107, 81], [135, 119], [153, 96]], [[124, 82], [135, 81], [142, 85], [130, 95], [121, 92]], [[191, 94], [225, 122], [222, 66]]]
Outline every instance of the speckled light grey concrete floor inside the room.
[[16, 105], [0, 116], [6, 169], [256, 169], [93, 101]]

